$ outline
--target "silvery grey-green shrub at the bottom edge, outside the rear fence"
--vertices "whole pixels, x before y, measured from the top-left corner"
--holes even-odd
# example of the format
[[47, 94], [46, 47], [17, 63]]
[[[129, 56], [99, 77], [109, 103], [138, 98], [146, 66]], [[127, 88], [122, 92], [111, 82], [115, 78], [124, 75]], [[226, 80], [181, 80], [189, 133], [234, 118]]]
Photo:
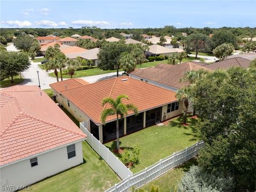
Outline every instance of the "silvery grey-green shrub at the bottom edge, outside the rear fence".
[[206, 172], [199, 166], [191, 166], [181, 180], [178, 191], [224, 192], [234, 191], [233, 178], [222, 173]]

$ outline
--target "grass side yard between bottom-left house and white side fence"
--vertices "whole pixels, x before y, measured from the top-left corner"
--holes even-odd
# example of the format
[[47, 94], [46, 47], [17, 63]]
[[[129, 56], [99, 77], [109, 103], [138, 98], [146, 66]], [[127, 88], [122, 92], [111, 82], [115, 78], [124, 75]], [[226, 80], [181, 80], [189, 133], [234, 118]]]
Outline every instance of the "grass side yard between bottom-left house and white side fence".
[[31, 186], [31, 191], [105, 191], [121, 181], [83, 141], [84, 163]]

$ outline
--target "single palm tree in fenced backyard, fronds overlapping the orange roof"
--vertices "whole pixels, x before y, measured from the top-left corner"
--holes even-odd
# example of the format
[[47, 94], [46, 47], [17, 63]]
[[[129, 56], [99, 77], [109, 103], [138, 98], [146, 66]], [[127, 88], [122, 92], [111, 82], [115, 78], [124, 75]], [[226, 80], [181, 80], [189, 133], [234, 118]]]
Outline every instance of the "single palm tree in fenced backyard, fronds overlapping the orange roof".
[[[135, 115], [138, 114], [138, 109], [132, 103], [124, 104], [122, 99], [129, 100], [129, 97], [125, 94], [119, 95], [116, 99], [105, 98], [102, 100], [102, 106], [105, 106], [105, 109], [101, 112], [101, 122], [105, 123], [108, 116], [116, 115], [116, 148], [119, 151], [119, 117], [122, 119], [125, 115], [128, 114], [128, 111], [133, 111]], [[106, 108], [107, 105], [110, 105], [110, 108]]]

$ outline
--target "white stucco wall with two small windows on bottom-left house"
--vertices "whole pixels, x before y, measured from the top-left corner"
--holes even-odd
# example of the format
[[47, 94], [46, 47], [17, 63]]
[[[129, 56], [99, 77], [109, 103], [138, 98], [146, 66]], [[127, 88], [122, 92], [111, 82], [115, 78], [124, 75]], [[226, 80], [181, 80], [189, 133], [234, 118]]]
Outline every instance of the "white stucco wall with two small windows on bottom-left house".
[[[28, 186], [46, 177], [83, 163], [82, 141], [75, 143], [76, 156], [68, 159], [67, 146], [37, 155], [38, 165], [31, 167], [30, 158], [4, 166], [1, 172], [1, 191], [5, 186]], [[31, 157], [33, 158], [33, 157]], [[8, 191], [8, 190], [7, 190]], [[9, 190], [13, 191], [13, 190]]]

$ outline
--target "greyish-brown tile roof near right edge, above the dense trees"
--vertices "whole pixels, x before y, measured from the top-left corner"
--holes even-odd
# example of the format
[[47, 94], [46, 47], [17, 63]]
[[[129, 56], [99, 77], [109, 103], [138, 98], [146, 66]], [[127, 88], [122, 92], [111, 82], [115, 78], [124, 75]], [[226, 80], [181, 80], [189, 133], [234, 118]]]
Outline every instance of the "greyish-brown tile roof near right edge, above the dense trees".
[[244, 59], [241, 57], [235, 57], [231, 59], [225, 59], [222, 61], [217, 61], [211, 64], [205, 64], [202, 63], [201, 65], [203, 67], [206, 67], [211, 70], [217, 70], [217, 69], [224, 69], [227, 70], [231, 67], [243, 67], [243, 68], [248, 68], [250, 66], [250, 60], [249, 59]]

